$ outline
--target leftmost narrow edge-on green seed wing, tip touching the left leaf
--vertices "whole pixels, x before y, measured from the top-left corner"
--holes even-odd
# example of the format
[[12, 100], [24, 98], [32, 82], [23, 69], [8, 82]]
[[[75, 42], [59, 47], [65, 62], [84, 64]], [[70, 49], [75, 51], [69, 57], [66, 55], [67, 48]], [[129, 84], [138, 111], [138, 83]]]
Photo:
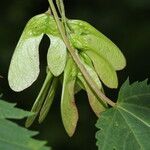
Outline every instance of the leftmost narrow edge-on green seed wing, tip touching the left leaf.
[[40, 93], [38, 94], [38, 97], [36, 98], [36, 100], [32, 106], [32, 109], [31, 109], [31, 112], [34, 112], [36, 114], [34, 116], [30, 116], [27, 118], [26, 123], [25, 123], [26, 127], [30, 127], [32, 125], [32, 123], [34, 122], [38, 113], [40, 112], [40, 109], [44, 103], [46, 96], [47, 96], [52, 79], [53, 79], [53, 75], [51, 74], [50, 71], [48, 71], [46, 79], [44, 81], [44, 84], [40, 90]]

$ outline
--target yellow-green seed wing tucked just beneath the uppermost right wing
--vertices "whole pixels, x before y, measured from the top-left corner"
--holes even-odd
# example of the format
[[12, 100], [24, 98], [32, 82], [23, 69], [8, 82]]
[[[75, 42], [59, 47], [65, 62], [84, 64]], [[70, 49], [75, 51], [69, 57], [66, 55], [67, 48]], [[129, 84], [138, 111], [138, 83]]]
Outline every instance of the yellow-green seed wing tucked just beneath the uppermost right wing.
[[86, 51], [86, 54], [93, 61], [96, 72], [103, 83], [110, 88], [118, 87], [117, 74], [114, 68], [103, 57], [95, 52]]

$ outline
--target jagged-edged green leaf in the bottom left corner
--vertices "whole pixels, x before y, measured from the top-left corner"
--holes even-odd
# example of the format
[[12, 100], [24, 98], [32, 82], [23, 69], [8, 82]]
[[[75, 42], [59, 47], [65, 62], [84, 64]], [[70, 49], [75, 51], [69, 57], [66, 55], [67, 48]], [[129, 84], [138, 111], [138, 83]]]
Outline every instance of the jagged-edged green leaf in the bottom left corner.
[[30, 112], [15, 108], [15, 104], [0, 100], [0, 149], [2, 150], [49, 150], [46, 142], [32, 138], [38, 132], [29, 131], [6, 120], [22, 119], [33, 115]]

